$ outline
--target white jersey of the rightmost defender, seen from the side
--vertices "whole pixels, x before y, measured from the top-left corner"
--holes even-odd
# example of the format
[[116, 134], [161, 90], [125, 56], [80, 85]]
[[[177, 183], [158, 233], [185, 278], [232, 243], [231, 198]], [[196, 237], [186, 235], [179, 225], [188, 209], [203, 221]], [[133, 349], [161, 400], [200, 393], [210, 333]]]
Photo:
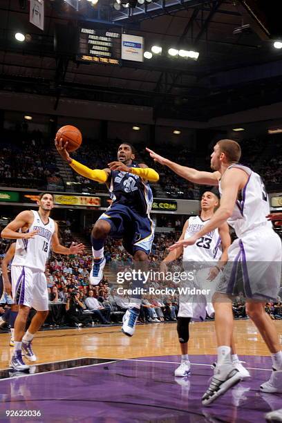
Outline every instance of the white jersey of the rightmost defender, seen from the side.
[[[234, 228], [238, 238], [242, 238], [254, 229], [272, 229], [272, 223], [265, 218], [267, 214], [270, 214], [270, 205], [261, 176], [242, 164], [232, 164], [228, 169], [233, 167], [243, 169], [249, 179], [239, 192], [239, 198], [227, 223]], [[221, 194], [220, 182], [219, 192]]]

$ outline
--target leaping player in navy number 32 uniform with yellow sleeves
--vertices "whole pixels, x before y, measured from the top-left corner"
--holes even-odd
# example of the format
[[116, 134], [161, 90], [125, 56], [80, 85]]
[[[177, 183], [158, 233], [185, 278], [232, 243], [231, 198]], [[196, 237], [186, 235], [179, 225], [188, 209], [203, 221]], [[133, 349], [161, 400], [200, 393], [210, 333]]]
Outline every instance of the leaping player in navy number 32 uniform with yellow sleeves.
[[[93, 267], [90, 282], [97, 285], [102, 279], [104, 258], [104, 242], [107, 236], [122, 238], [124, 249], [133, 256], [135, 267], [144, 269], [153, 243], [154, 227], [150, 218], [153, 194], [149, 182], [157, 182], [158, 173], [149, 169], [146, 164], [135, 162], [135, 151], [131, 144], [123, 142], [118, 147], [118, 161], [111, 162], [108, 167], [89, 169], [73, 160], [67, 143], [55, 140], [57, 151], [79, 175], [85, 178], [104, 182], [109, 189], [113, 203], [97, 220], [91, 234], [93, 250]], [[142, 285], [142, 280], [133, 284]], [[131, 307], [124, 314], [122, 332], [132, 336], [140, 310], [141, 296], [131, 298]]]

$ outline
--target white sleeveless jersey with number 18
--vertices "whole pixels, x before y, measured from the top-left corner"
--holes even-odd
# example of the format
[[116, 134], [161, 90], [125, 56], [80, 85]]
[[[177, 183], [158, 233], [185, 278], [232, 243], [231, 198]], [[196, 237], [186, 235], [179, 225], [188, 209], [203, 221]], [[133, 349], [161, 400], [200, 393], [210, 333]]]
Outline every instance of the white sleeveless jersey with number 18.
[[39, 213], [31, 210], [34, 218], [28, 228], [28, 232], [38, 230], [35, 238], [17, 239], [15, 256], [12, 265], [26, 266], [32, 269], [45, 272], [45, 265], [48, 259], [51, 238], [55, 232], [55, 222], [49, 218], [48, 223], [44, 225]]

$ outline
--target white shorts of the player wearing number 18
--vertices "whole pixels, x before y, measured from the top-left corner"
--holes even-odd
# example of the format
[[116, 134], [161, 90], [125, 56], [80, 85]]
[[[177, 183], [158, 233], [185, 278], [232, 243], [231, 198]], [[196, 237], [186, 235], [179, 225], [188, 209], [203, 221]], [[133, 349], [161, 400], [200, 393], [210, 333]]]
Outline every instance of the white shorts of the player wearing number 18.
[[12, 297], [16, 304], [48, 311], [47, 281], [44, 272], [26, 266], [11, 266]]

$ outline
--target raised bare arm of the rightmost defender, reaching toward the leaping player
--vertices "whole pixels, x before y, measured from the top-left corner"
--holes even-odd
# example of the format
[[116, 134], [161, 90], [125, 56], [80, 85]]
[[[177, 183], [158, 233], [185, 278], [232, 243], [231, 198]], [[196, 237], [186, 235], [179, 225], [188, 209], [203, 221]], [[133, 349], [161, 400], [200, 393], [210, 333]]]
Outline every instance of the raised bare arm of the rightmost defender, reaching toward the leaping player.
[[218, 171], [215, 172], [205, 172], [205, 171], [198, 171], [193, 169], [192, 167], [182, 166], [181, 164], [171, 162], [167, 158], [160, 156], [159, 154], [155, 153], [153, 150], [146, 148], [148, 153], [150, 154], [151, 158], [160, 164], [164, 164], [164, 166], [169, 167], [173, 172], [175, 172], [178, 176], [181, 176], [184, 179], [189, 180], [190, 182], [194, 182], [194, 184], [199, 185], [218, 185], [218, 180], [220, 180], [220, 173]]

